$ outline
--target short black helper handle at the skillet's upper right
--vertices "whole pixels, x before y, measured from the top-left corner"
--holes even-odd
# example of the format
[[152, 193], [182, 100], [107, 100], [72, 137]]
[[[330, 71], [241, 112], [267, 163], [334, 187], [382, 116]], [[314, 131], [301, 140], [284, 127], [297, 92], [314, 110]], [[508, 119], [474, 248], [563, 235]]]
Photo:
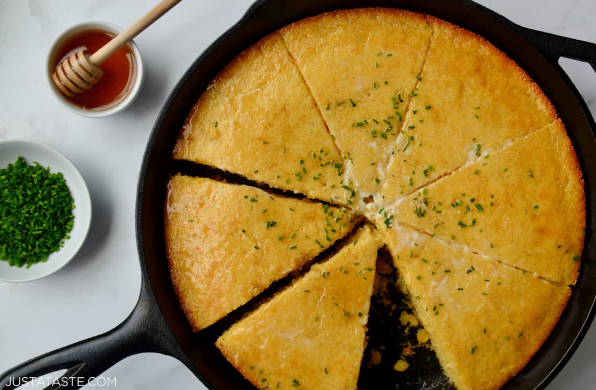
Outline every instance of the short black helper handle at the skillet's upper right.
[[589, 63], [592, 65], [594, 71], [596, 71], [595, 43], [523, 27], [520, 33], [552, 63], [558, 64], [559, 58], [567, 57]]

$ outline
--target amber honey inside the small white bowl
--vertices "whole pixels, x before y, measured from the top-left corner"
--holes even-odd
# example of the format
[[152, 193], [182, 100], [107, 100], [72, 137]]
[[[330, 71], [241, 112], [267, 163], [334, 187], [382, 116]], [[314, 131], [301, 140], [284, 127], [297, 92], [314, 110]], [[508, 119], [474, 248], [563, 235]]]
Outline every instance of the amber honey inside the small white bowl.
[[[74, 35], [58, 48], [59, 60], [55, 68], [80, 49], [93, 54], [112, 38], [114, 38], [113, 34], [102, 30], [88, 30]], [[104, 75], [89, 91], [72, 98], [64, 97], [85, 110], [94, 111], [106, 110], [123, 101], [131, 92], [136, 79], [136, 61], [131, 48], [128, 45], [123, 46], [105, 60], [101, 68], [104, 70]]]

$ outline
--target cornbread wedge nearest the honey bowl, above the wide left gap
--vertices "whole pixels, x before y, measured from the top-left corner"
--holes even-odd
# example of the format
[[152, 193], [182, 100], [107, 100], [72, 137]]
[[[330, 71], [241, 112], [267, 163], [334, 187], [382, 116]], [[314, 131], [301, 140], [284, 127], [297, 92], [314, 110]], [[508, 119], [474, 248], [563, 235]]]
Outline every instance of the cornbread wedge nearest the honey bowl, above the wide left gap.
[[274, 33], [213, 80], [188, 116], [173, 157], [346, 202], [343, 159], [305, 83]]

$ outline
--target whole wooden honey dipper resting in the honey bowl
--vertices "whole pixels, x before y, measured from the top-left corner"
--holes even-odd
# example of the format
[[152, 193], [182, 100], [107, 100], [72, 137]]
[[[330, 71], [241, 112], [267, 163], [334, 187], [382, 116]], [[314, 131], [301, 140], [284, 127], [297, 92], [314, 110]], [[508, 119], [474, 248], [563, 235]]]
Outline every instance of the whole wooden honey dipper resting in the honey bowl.
[[180, 1], [163, 0], [94, 54], [87, 54], [85, 49], [80, 49], [69, 58], [66, 58], [52, 74], [55, 85], [69, 98], [89, 91], [103, 76], [104, 71], [101, 69], [101, 64], [105, 60]]

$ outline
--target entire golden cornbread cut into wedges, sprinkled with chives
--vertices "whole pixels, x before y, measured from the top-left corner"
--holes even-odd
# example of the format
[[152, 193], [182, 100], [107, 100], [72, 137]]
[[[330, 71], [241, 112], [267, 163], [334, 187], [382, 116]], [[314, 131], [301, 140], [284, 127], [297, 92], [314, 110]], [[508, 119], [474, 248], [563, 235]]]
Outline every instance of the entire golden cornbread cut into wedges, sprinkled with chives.
[[[195, 330], [337, 253], [218, 339], [257, 388], [356, 388], [377, 240], [417, 314], [396, 320], [424, 326], [459, 390], [516, 375], [578, 277], [586, 201], [563, 122], [507, 55], [430, 15], [341, 10], [266, 36], [203, 92], [173, 157], [254, 183], [170, 180], [167, 254]], [[363, 219], [376, 229], [338, 241]], [[420, 372], [401, 339], [372, 340], [364, 369]]]

